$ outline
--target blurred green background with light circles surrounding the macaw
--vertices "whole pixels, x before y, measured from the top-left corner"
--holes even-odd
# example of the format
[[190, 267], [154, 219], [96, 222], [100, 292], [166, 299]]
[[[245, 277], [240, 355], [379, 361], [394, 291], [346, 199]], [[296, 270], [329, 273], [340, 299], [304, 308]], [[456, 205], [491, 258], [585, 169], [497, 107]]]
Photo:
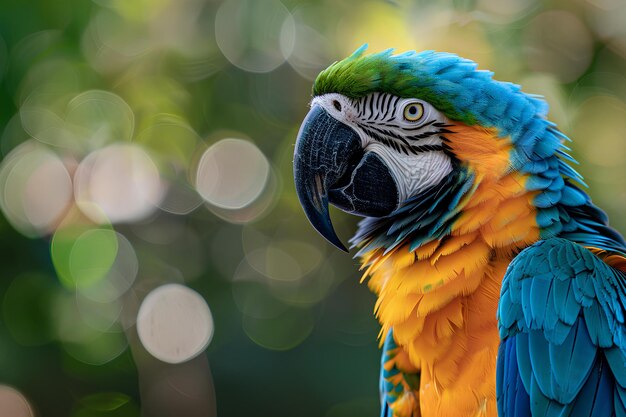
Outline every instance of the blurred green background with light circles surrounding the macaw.
[[3, 1], [0, 416], [377, 415], [374, 297], [291, 174], [365, 42], [544, 95], [626, 231], [623, 0]]

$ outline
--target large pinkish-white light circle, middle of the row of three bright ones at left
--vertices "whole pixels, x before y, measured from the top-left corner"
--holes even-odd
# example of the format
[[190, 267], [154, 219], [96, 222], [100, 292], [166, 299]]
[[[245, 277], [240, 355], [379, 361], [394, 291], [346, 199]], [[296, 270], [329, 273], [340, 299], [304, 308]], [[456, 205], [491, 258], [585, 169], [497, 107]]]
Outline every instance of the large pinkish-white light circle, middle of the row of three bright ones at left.
[[74, 175], [78, 207], [99, 223], [141, 220], [157, 209], [165, 192], [155, 163], [132, 144], [115, 144], [89, 154]]

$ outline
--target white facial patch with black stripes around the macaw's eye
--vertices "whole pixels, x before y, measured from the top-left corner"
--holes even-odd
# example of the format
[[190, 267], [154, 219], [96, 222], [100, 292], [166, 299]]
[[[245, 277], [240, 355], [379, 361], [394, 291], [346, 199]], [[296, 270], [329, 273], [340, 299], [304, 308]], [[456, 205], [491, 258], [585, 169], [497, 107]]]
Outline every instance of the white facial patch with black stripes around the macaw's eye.
[[314, 105], [354, 129], [363, 149], [380, 156], [394, 177], [401, 202], [452, 172], [441, 138], [450, 121], [423, 100], [385, 93], [351, 99], [330, 93], [315, 97]]

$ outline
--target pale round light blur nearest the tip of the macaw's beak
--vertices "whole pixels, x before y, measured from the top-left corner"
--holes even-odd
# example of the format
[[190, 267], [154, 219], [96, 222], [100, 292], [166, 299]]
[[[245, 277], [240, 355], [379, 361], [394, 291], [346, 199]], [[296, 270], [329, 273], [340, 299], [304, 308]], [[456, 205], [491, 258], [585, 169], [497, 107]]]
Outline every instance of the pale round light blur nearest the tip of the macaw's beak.
[[202, 155], [196, 171], [196, 189], [208, 203], [236, 210], [261, 195], [269, 175], [269, 162], [253, 143], [223, 139]]

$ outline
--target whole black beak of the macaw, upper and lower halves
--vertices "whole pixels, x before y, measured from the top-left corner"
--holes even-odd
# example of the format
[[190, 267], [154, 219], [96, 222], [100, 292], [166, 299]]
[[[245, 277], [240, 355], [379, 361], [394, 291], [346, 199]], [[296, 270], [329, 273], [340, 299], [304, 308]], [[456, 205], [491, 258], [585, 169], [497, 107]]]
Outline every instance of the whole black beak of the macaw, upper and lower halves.
[[387, 165], [365, 153], [359, 135], [315, 105], [298, 133], [294, 153], [296, 192], [309, 221], [330, 243], [346, 251], [335, 233], [330, 202], [344, 211], [383, 216], [397, 207], [397, 187]]

